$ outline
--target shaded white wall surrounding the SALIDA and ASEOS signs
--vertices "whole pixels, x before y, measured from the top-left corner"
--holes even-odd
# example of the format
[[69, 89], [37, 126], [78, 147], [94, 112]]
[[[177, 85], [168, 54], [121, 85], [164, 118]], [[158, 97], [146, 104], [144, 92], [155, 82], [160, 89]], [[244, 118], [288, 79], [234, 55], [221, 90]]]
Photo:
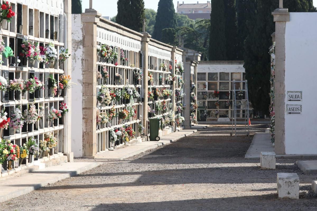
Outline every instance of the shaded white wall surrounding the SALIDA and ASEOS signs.
[[302, 115], [285, 113], [285, 152], [317, 154], [317, 13], [290, 13], [285, 51], [285, 94], [303, 91], [302, 102], [285, 99], [302, 105]]

